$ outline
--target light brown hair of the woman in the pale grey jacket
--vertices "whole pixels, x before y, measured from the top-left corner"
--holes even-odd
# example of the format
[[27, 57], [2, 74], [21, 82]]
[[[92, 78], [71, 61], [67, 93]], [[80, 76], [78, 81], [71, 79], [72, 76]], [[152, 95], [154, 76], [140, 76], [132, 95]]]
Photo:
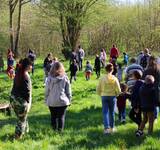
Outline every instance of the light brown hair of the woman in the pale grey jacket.
[[65, 74], [65, 69], [62, 63], [55, 62], [51, 67], [50, 75], [52, 77], [63, 76]]

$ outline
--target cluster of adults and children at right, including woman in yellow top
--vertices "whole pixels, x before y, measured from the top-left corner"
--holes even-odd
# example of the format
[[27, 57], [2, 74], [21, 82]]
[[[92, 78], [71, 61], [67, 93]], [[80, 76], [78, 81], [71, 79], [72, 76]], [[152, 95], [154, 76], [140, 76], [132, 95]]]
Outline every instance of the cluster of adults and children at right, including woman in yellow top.
[[[148, 133], [153, 132], [154, 121], [158, 117], [160, 106], [160, 64], [158, 59], [145, 49], [140, 56], [131, 58], [131, 64], [124, 68], [125, 82], [118, 81], [114, 65], [106, 65], [104, 75], [97, 86], [97, 93], [102, 99], [104, 133], [115, 131], [114, 113], [118, 107], [119, 121], [126, 122], [126, 100], [131, 103], [129, 117], [137, 124], [136, 136], [142, 136], [144, 127], [149, 122]], [[140, 59], [140, 60], [139, 60]], [[117, 101], [117, 102], [116, 102]]]

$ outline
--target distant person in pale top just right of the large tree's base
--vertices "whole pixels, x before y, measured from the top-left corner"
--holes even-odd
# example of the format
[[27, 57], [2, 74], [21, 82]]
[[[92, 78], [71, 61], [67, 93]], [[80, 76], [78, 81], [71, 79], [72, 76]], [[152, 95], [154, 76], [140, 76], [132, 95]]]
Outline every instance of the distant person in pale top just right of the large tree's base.
[[82, 49], [82, 47], [79, 45], [78, 46], [78, 67], [79, 70], [83, 69], [83, 59], [84, 59], [84, 50]]

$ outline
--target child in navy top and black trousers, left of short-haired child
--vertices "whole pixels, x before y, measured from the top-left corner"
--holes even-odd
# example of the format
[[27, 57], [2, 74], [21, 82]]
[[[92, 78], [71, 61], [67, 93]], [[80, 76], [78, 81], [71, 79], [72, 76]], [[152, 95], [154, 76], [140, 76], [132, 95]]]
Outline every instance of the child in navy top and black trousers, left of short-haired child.
[[133, 78], [135, 79], [135, 85], [132, 88], [131, 91], [131, 110], [129, 112], [130, 119], [135, 122], [138, 127], [141, 124], [141, 103], [140, 103], [140, 96], [139, 96], [139, 89], [143, 84], [143, 81], [141, 80], [142, 74], [135, 70], [133, 72]]

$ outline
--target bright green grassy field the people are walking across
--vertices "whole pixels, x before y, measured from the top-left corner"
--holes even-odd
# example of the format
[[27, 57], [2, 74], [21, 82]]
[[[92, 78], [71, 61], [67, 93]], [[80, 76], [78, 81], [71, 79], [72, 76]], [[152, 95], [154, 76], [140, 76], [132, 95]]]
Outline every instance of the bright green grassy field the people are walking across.
[[[0, 113], [0, 150], [160, 149], [160, 119], [152, 136], [145, 134], [137, 138], [134, 134], [136, 125], [128, 117], [126, 125], [121, 125], [116, 115], [117, 132], [103, 135], [101, 100], [95, 91], [97, 82], [95, 73], [90, 81], [85, 81], [83, 72], [78, 73], [77, 81], [72, 84], [73, 100], [68, 107], [65, 130], [59, 134], [50, 126], [50, 114], [44, 104], [42, 61], [38, 60], [32, 76], [33, 103], [28, 116], [30, 132], [22, 140], [12, 141], [16, 122], [14, 112], [11, 117]], [[11, 87], [12, 81], [1, 73], [0, 103], [9, 101]]]

